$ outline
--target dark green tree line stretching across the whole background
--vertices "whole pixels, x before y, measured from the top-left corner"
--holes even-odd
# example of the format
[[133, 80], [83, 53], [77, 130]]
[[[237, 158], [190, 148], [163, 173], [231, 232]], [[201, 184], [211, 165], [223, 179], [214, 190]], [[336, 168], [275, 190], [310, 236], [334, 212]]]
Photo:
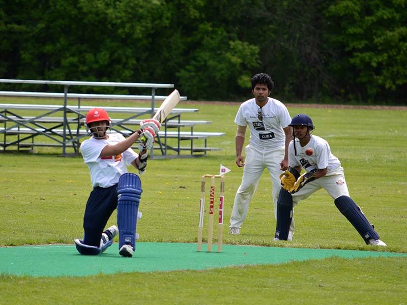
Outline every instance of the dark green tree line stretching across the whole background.
[[[291, 101], [400, 104], [407, 95], [404, 0], [0, 4], [1, 78], [174, 83], [189, 99], [230, 101], [250, 96], [250, 77], [266, 72], [273, 95]], [[11, 87], [32, 88], [0, 84]]]

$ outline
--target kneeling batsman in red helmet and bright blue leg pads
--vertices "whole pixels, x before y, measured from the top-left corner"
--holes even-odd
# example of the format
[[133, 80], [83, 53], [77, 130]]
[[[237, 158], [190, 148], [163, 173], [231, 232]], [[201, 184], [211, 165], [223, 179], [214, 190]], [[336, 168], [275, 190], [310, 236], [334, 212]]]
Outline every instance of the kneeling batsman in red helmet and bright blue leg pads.
[[[80, 145], [81, 154], [91, 173], [93, 191], [86, 203], [82, 239], [75, 239], [80, 254], [103, 253], [119, 234], [119, 253], [132, 257], [135, 250], [137, 219], [141, 218], [138, 205], [141, 199], [141, 181], [127, 166], [133, 165], [139, 174], [146, 170], [148, 150], [154, 145], [155, 134], [161, 128], [155, 119], [142, 120], [140, 129], [125, 138], [120, 133], [108, 133], [110, 118], [102, 108], [86, 114], [86, 130], [91, 138]], [[131, 148], [139, 138], [140, 153]], [[118, 209], [117, 224], [104, 230], [114, 209]], [[103, 231], [104, 230], [104, 231]]]

